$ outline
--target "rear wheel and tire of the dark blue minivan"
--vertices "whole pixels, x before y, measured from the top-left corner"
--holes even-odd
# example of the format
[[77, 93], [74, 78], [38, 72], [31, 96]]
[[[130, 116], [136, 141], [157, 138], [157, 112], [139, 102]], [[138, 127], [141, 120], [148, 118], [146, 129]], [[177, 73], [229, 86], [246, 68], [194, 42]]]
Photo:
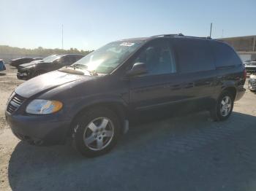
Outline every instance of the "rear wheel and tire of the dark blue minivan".
[[[223, 102], [224, 101], [224, 102]], [[217, 104], [211, 109], [211, 118], [214, 121], [227, 120], [233, 111], [234, 98], [232, 93], [223, 91], [217, 100]]]

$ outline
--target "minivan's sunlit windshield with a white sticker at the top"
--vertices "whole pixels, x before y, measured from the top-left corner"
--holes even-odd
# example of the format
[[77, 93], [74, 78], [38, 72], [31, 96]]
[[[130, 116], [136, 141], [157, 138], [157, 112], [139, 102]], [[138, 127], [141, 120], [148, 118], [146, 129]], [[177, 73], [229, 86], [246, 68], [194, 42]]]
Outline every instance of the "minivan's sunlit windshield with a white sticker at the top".
[[89, 71], [109, 74], [124, 62], [132, 52], [135, 52], [143, 42], [142, 40], [110, 42], [72, 65], [83, 65]]

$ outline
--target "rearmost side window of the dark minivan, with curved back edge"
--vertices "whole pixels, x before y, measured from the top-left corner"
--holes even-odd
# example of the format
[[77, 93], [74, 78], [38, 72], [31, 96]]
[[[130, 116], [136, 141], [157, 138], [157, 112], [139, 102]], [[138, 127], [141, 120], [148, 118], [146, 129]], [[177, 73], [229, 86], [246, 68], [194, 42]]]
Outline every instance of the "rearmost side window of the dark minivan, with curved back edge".
[[241, 60], [236, 52], [225, 43], [222, 42], [211, 42], [211, 47], [214, 50], [215, 65], [216, 67], [225, 66], [238, 66], [241, 65]]

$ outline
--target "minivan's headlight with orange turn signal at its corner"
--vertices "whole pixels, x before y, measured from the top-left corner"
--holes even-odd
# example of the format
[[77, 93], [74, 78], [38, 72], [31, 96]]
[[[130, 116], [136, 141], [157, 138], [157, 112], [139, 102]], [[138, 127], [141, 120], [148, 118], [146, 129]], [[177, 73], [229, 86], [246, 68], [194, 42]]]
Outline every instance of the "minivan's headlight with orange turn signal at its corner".
[[35, 99], [26, 106], [29, 114], [52, 114], [61, 110], [63, 104], [60, 101]]

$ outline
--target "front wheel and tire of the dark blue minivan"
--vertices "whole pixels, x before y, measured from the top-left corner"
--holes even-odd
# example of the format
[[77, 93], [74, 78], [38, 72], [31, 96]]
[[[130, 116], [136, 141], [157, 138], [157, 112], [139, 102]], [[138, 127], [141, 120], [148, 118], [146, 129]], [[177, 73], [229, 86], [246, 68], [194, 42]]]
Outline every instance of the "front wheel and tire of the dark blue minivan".
[[120, 136], [117, 115], [108, 108], [97, 107], [78, 117], [73, 129], [73, 146], [83, 156], [97, 157], [110, 152]]

